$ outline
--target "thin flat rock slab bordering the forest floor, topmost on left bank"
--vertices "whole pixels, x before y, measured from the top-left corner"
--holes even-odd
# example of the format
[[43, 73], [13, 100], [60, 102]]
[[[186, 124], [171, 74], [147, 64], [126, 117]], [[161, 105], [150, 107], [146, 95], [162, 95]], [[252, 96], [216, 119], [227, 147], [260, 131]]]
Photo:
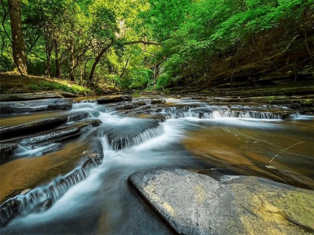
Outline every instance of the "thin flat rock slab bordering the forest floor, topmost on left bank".
[[63, 96], [54, 91], [39, 91], [39, 92], [33, 92], [33, 93], [0, 95], [0, 101], [25, 101], [25, 100], [48, 99], [48, 98], [63, 98]]

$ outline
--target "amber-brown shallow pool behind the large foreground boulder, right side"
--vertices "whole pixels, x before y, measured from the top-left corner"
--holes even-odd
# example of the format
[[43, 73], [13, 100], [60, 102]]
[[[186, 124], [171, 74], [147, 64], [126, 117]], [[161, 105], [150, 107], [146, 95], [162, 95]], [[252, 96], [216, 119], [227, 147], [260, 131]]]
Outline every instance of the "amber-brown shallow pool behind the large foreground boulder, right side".
[[[314, 188], [313, 119], [302, 125], [299, 125], [299, 120], [261, 122], [255, 128], [246, 126], [247, 120], [217, 122], [208, 122], [206, 128], [187, 133], [183, 140], [186, 148], [197, 157], [214, 163], [216, 167], [232, 170], [237, 174], [256, 175], [295, 186]], [[203, 125], [206, 126], [205, 123]], [[305, 143], [287, 149], [272, 161], [273, 169], [265, 168], [281, 150], [300, 141]]]

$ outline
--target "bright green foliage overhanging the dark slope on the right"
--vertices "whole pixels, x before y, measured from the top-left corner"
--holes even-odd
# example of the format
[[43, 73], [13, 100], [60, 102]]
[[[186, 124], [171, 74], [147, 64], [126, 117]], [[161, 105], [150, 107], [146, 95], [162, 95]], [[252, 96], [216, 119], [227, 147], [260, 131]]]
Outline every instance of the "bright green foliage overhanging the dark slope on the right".
[[[241, 41], [251, 39], [253, 34], [283, 23], [289, 22], [293, 29], [303, 20], [305, 10], [313, 8], [310, 1], [303, 0], [160, 2], [152, 9], [149, 21], [152, 32], [155, 32], [152, 36], [165, 38], [165, 47], [160, 48], [159, 55], [166, 58], [162, 63], [164, 72], [157, 81], [159, 89], [186, 74], [199, 79], [205, 56], [210, 60]], [[168, 8], [164, 9], [166, 5]], [[165, 16], [168, 11], [175, 14]]]

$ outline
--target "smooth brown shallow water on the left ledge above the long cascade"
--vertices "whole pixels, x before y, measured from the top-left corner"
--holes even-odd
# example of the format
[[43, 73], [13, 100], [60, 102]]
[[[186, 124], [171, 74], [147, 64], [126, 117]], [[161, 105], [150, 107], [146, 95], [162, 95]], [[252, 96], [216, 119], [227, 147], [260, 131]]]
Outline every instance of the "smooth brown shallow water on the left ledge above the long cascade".
[[89, 143], [77, 139], [63, 145], [57, 152], [37, 157], [16, 158], [0, 165], [1, 203], [25, 189], [49, 182], [65, 175], [82, 162], [83, 152]]

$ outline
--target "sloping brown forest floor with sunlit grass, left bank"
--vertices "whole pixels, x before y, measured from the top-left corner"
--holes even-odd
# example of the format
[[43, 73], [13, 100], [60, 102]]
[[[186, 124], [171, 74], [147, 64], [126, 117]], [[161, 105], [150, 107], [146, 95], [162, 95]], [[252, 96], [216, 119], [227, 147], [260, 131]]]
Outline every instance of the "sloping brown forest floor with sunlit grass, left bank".
[[19, 75], [14, 72], [0, 73], [1, 94], [29, 93], [34, 91], [61, 90], [77, 95], [97, 95], [114, 92], [114, 89], [100, 89], [95, 86], [78, 85], [78, 83], [55, 77]]

